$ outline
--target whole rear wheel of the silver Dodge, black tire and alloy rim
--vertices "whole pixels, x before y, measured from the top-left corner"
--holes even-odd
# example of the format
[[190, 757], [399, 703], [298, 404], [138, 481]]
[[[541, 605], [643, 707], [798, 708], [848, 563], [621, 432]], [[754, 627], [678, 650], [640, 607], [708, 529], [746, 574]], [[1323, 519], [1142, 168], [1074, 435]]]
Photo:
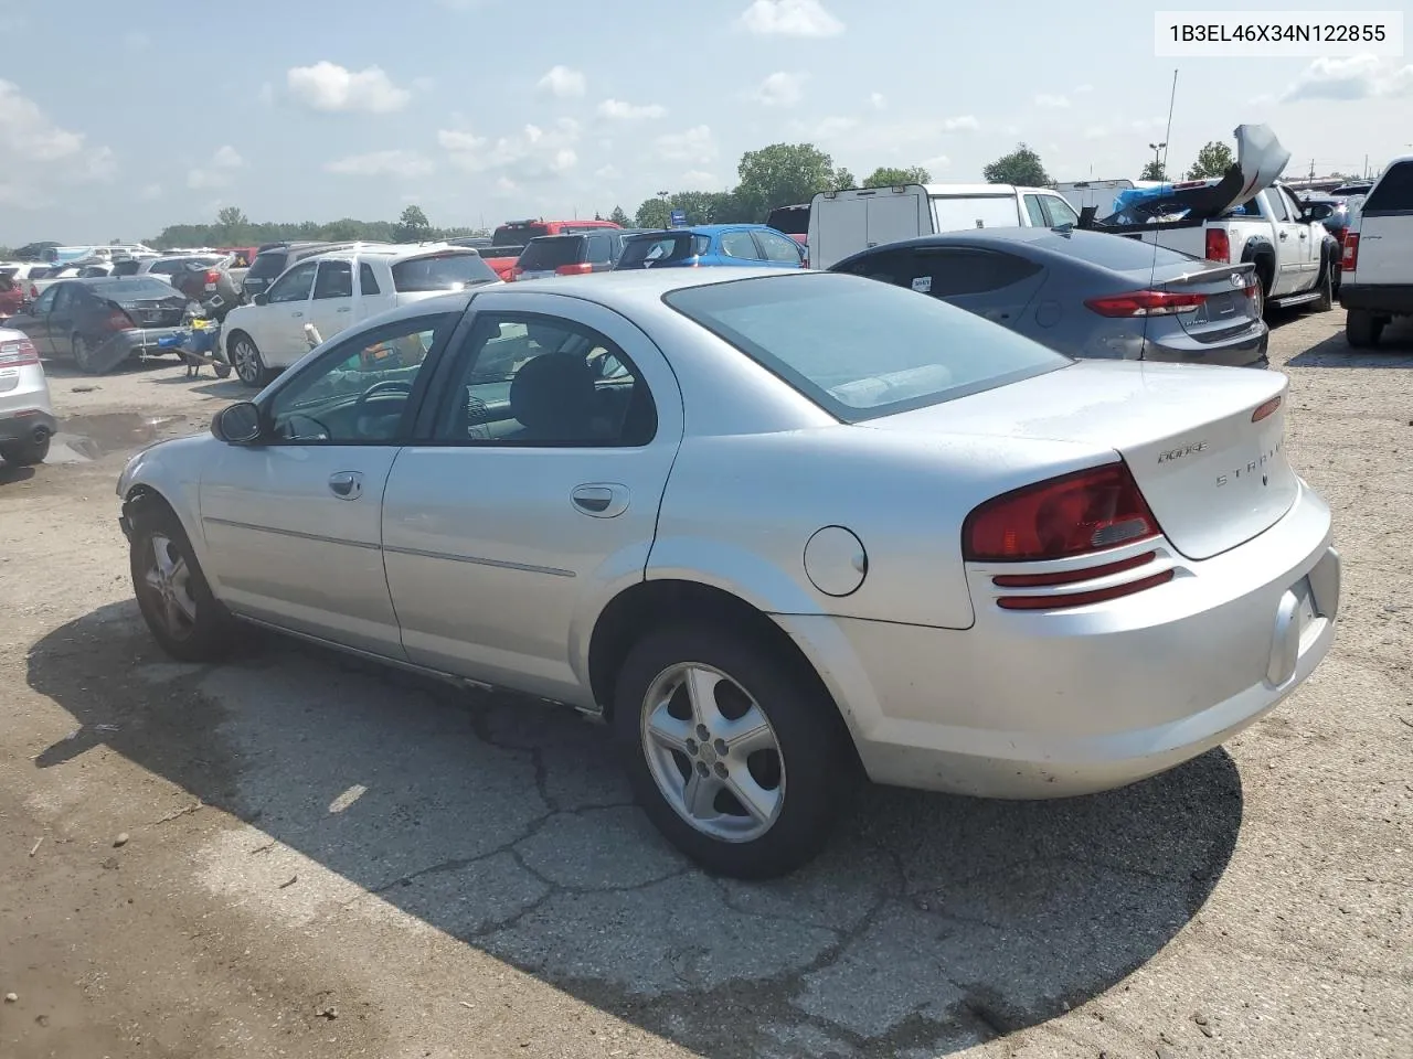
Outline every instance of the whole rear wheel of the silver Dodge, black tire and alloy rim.
[[613, 726], [663, 836], [709, 873], [759, 880], [820, 853], [858, 777], [842, 723], [825, 713], [834, 709], [818, 679], [779, 651], [695, 624], [629, 651]]

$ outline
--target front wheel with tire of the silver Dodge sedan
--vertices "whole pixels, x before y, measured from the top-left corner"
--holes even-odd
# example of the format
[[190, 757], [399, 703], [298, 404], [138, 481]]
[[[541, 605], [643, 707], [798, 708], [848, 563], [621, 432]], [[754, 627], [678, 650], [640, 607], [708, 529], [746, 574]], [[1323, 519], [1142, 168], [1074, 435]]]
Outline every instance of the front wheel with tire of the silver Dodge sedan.
[[179, 662], [213, 662], [235, 640], [235, 620], [212, 594], [181, 520], [148, 500], [133, 514], [133, 594], [153, 638]]

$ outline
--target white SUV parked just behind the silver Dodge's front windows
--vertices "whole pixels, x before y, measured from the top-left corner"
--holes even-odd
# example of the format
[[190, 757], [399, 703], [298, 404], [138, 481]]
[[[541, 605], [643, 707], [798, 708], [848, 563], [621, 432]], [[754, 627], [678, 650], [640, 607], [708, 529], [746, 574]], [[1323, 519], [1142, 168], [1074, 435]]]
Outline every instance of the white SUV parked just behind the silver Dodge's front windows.
[[479, 284], [500, 282], [469, 247], [431, 243], [363, 246], [307, 257], [281, 273], [222, 328], [226, 360], [240, 381], [261, 385], [309, 352], [305, 325], [319, 337], [398, 305]]

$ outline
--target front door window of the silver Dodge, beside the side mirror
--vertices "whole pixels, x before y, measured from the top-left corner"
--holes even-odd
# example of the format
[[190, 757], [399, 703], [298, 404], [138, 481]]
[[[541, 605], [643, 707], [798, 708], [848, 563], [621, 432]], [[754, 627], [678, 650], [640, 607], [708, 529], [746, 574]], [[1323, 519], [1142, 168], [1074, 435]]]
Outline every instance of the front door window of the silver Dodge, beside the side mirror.
[[331, 349], [270, 398], [264, 408], [270, 442], [396, 442], [427, 354], [458, 316], [435, 313], [397, 321]]

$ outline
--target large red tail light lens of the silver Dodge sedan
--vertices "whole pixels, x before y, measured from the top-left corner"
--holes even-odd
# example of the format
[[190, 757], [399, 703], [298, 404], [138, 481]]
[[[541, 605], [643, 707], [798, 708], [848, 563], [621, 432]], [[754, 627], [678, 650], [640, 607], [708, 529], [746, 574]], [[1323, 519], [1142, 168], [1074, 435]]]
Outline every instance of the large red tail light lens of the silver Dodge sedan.
[[1128, 465], [1106, 463], [988, 500], [962, 524], [962, 558], [1063, 559], [1160, 532]]

